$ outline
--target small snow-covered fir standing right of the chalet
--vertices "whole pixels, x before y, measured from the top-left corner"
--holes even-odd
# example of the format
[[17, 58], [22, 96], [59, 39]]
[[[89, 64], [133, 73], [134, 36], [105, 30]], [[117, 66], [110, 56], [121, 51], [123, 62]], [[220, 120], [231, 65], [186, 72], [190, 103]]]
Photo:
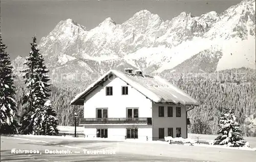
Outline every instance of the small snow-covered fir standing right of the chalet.
[[237, 117], [234, 115], [233, 108], [223, 109], [219, 128], [219, 134], [222, 135], [215, 139], [217, 140], [215, 144], [228, 145], [230, 147], [241, 147], [246, 144], [246, 141], [243, 140], [242, 131], [237, 122]]

